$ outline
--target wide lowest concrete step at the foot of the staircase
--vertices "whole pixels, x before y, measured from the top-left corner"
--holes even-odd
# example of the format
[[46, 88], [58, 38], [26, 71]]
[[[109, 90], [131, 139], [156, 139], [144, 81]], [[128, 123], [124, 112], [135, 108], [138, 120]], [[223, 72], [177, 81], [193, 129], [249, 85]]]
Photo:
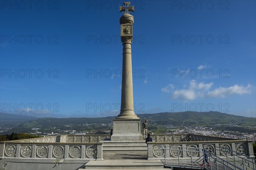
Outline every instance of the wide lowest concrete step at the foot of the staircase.
[[[163, 169], [163, 163], [160, 160], [143, 160], [143, 159], [124, 159], [124, 160], [103, 160], [103, 161], [89, 161], [85, 164], [86, 170], [143, 170], [143, 169]], [[79, 170], [84, 170], [79, 169]]]

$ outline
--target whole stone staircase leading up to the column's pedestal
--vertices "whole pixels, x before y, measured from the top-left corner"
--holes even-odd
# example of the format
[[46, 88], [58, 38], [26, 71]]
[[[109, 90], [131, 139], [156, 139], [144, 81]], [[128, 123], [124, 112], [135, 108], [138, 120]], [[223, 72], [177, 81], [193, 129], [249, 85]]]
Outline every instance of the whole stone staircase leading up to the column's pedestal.
[[145, 141], [103, 141], [103, 160], [89, 161], [79, 170], [162, 170], [160, 160], [147, 160]]

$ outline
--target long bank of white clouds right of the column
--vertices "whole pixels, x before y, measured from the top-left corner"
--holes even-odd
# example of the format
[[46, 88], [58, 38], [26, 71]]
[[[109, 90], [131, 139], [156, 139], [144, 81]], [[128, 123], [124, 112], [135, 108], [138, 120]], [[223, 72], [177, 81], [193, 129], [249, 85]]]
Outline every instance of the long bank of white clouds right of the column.
[[183, 86], [183, 89], [174, 89], [173, 84], [161, 89], [162, 92], [172, 92], [172, 98], [179, 98], [182, 101], [191, 101], [196, 98], [225, 98], [233, 94], [244, 95], [251, 94], [252, 86], [248, 84], [246, 87], [234, 85], [230, 87], [218, 87], [212, 91], [209, 89], [213, 86], [213, 82], [206, 84], [204, 82], [197, 83], [195, 80], [189, 82], [189, 88]]

